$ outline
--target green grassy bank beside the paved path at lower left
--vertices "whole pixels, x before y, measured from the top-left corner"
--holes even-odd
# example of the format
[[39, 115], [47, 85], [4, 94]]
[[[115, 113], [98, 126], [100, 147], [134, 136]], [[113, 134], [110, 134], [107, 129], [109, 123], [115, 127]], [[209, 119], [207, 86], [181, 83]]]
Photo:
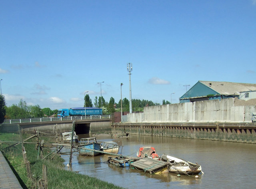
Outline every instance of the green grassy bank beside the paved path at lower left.
[[[122, 187], [115, 186], [112, 183], [101, 181], [100, 179], [81, 175], [72, 171], [64, 170], [64, 160], [56, 155], [53, 159], [52, 156], [42, 160], [37, 159], [38, 150], [35, 144], [24, 144], [26, 148], [27, 158], [30, 162], [32, 179], [28, 179], [27, 171], [23, 163], [22, 155], [8, 155], [6, 157], [10, 165], [14, 167], [18, 179], [22, 183], [23, 188], [37, 189], [38, 181], [42, 179], [42, 166], [47, 167], [48, 189], [123, 189]], [[49, 149], [44, 149], [44, 155], [49, 153]], [[18, 166], [17, 166], [18, 165]], [[99, 175], [99, 177], [102, 175]]]

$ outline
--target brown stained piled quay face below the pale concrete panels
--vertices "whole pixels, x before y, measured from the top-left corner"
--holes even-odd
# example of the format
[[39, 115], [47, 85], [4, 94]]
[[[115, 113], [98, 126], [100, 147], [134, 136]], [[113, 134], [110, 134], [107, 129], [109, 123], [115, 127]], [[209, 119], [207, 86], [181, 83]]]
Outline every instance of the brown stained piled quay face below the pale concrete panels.
[[112, 132], [256, 143], [256, 123], [114, 123]]

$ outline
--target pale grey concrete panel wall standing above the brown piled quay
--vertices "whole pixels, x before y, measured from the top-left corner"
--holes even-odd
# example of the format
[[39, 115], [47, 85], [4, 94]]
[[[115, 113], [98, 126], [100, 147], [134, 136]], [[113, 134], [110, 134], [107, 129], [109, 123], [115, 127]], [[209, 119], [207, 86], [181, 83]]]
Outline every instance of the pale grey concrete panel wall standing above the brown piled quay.
[[234, 99], [207, 100], [144, 107], [129, 113], [127, 122], [252, 122], [256, 106], [234, 106]]

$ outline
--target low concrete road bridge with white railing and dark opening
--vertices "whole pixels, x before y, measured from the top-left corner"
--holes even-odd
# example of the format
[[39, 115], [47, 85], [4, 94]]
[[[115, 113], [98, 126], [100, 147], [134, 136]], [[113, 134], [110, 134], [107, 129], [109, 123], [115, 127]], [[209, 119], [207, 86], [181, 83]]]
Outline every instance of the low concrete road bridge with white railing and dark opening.
[[[19, 124], [22, 131], [45, 133], [60, 133], [72, 131], [72, 122], [75, 121], [77, 134], [96, 133], [111, 129], [111, 115], [76, 116], [76, 117], [49, 117], [34, 119], [9, 119], [5, 124]], [[8, 129], [8, 127], [6, 127]]]

